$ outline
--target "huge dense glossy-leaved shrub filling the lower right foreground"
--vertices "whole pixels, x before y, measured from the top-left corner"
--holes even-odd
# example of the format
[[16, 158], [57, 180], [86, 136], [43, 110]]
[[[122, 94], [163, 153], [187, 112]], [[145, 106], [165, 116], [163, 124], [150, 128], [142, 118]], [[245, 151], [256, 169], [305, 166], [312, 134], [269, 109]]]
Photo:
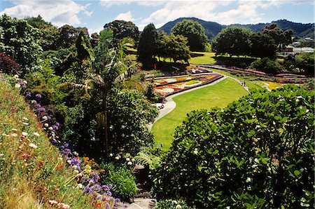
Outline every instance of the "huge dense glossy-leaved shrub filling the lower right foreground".
[[188, 114], [155, 171], [158, 197], [197, 208], [314, 207], [314, 90], [254, 90]]

